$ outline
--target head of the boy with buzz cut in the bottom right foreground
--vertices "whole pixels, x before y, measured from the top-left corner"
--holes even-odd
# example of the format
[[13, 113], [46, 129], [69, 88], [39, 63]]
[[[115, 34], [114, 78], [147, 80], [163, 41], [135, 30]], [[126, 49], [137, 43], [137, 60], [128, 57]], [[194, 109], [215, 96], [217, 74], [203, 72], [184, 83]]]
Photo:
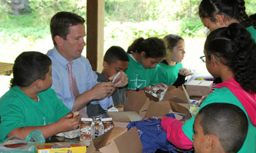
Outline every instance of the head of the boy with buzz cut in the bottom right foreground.
[[229, 103], [205, 105], [193, 126], [197, 153], [238, 152], [248, 131], [248, 120], [242, 109]]

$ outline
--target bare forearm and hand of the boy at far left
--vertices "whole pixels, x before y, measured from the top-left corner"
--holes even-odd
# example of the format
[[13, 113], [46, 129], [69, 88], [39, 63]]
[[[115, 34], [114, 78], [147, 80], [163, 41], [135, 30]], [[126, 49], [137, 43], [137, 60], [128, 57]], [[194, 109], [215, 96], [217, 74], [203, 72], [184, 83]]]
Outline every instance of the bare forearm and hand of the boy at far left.
[[57, 122], [52, 124], [47, 124], [44, 126], [25, 126], [16, 128], [10, 133], [8, 133], [8, 137], [15, 136], [20, 139], [25, 139], [27, 135], [34, 130], [42, 131], [42, 135], [44, 138], [51, 137], [53, 135], [57, 135], [58, 133], [71, 131], [77, 129], [79, 127], [79, 118], [71, 118], [72, 114], [67, 114], [59, 119]]

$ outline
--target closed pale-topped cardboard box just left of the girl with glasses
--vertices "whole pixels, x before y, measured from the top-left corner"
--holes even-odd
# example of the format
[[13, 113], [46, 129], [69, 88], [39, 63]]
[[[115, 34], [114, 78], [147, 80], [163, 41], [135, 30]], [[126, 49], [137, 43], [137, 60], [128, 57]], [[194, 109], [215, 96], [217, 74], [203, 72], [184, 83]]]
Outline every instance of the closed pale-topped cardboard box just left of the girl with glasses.
[[188, 95], [201, 97], [210, 94], [212, 83], [212, 81], [191, 80], [190, 82], [186, 82], [184, 85], [186, 85]]

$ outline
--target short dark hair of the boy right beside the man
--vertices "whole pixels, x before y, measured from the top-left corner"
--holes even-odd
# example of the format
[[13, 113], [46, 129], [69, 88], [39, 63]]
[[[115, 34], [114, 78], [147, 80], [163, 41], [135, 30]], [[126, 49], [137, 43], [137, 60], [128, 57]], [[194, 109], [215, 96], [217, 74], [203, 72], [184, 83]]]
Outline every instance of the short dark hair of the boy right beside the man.
[[104, 61], [111, 65], [117, 60], [129, 62], [128, 54], [126, 53], [126, 51], [124, 51], [123, 48], [119, 46], [111, 46], [111, 48], [106, 50], [106, 53], [104, 55]]

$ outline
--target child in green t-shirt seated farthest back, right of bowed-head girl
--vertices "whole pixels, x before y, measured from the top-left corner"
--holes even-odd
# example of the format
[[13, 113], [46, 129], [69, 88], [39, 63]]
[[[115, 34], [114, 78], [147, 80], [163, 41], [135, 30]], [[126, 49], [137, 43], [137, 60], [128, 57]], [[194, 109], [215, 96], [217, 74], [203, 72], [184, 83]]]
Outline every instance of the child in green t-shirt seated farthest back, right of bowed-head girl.
[[180, 86], [184, 84], [185, 78], [191, 75], [190, 71], [182, 68], [182, 60], [185, 55], [184, 39], [180, 35], [166, 35], [163, 38], [167, 55], [164, 60], [156, 66], [158, 71], [158, 82], [167, 86]]

